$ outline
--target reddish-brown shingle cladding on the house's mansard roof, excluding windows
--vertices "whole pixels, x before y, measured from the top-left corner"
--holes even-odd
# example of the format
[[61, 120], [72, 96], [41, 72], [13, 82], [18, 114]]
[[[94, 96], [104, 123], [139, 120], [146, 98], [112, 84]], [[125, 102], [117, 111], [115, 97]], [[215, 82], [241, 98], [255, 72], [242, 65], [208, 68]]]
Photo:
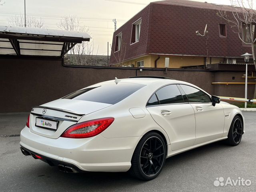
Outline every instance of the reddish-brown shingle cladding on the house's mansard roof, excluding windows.
[[[232, 28], [216, 15], [219, 9], [232, 10], [232, 7], [188, 0], [150, 3], [114, 32], [114, 37], [122, 32], [122, 42], [126, 43], [126, 54], [122, 60], [144, 54], [206, 56], [206, 38], [195, 33], [196, 30], [203, 32], [206, 24], [208, 56], [240, 57], [244, 52], [251, 52], [250, 47], [243, 46]], [[130, 45], [132, 23], [139, 18], [142, 18], [140, 40]], [[219, 36], [219, 24], [227, 24], [226, 38]], [[117, 52], [112, 52], [110, 63], [117, 63], [114, 55], [117, 57]]]

